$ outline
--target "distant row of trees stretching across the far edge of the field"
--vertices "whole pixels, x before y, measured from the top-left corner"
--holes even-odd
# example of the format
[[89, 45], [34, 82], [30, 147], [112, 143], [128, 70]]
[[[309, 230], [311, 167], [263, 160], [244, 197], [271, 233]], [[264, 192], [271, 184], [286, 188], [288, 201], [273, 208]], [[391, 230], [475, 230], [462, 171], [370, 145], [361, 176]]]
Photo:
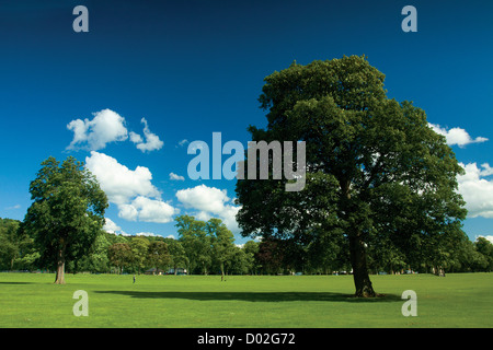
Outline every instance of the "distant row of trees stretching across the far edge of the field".
[[[348, 245], [319, 236], [310, 242], [294, 240], [249, 241], [237, 246], [232, 233], [219, 219], [208, 221], [181, 215], [175, 219], [177, 240], [161, 236], [124, 236], [101, 231], [90, 253], [67, 262], [68, 272], [142, 273], [185, 269], [193, 275], [332, 273], [351, 271]], [[491, 271], [493, 245], [485, 238], [444, 247], [439, 257], [404, 256], [382, 244], [368, 246], [372, 273], [413, 270], [433, 272], [438, 265], [447, 272]], [[0, 270], [53, 270], [42, 265], [34, 237], [22, 222], [0, 219]]]

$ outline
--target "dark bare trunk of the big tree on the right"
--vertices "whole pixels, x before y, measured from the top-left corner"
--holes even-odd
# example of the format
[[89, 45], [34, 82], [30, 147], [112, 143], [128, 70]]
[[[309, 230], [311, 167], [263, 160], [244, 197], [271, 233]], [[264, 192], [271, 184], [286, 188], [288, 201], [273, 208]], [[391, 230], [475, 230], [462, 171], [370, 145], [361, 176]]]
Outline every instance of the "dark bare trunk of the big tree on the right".
[[355, 296], [376, 296], [368, 276], [366, 264], [366, 250], [364, 242], [358, 236], [349, 236], [351, 265], [353, 266], [353, 279], [356, 288]]

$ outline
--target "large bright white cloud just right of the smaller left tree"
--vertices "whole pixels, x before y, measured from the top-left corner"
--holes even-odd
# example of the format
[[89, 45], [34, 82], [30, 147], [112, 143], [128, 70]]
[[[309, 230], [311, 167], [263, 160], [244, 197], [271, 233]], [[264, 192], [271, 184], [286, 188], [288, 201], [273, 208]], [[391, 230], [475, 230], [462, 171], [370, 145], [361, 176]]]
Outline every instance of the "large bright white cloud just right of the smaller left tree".
[[95, 151], [85, 158], [87, 168], [95, 175], [108, 200], [118, 207], [118, 217], [128, 221], [165, 223], [179, 212], [161, 200], [152, 185], [152, 174], [145, 166], [134, 171], [114, 158]]

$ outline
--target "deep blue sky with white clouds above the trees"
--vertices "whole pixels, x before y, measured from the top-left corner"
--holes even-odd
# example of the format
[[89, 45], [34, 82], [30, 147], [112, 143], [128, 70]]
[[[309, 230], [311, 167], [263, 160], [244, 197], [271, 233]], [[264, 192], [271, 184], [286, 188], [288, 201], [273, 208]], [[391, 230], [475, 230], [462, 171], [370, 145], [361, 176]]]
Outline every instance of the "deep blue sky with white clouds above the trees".
[[[72, 30], [79, 4], [89, 33]], [[401, 30], [408, 4], [416, 33]], [[214, 215], [242, 243], [234, 180], [190, 179], [187, 142], [246, 144], [246, 127], [266, 122], [266, 75], [367, 55], [389, 97], [423, 108], [465, 165], [467, 234], [493, 235], [492, 13], [489, 0], [4, 1], [0, 217], [22, 220], [41, 162], [73, 155], [106, 176], [117, 232], [176, 235], [176, 213]]]

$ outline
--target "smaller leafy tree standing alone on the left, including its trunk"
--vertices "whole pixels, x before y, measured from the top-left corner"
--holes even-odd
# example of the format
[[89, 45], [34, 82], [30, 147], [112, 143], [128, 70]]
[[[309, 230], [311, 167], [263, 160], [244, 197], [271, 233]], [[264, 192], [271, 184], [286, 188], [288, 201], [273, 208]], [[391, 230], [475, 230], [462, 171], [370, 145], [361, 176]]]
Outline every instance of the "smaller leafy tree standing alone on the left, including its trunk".
[[39, 249], [39, 262], [56, 269], [65, 283], [65, 265], [88, 253], [104, 224], [107, 198], [95, 177], [73, 156], [61, 164], [50, 156], [30, 186], [33, 203], [24, 230]]

